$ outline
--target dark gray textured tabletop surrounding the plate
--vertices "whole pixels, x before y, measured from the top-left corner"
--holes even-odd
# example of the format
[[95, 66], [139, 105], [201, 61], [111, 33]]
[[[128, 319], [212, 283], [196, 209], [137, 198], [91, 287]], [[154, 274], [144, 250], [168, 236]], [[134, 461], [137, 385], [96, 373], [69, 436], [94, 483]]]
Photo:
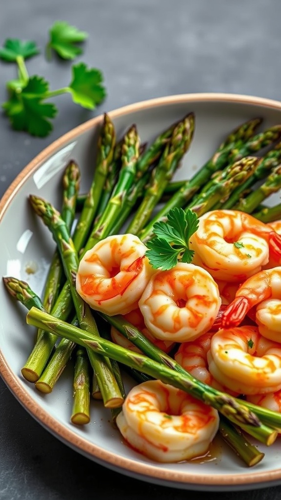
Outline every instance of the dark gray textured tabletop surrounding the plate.
[[[42, 148], [95, 114], [135, 101], [186, 92], [281, 98], [280, 0], [0, 0], [0, 44], [34, 39], [43, 48], [54, 20], [89, 33], [79, 58], [103, 71], [108, 91], [94, 112], [55, 99], [59, 113], [44, 139], [10, 129], [0, 115], [0, 195]], [[70, 63], [28, 61], [51, 87], [70, 81]], [[14, 67], [0, 63], [0, 102]], [[0, 500], [76, 500], [158, 496], [183, 500], [277, 500], [280, 487], [229, 493], [186, 492], [124, 477], [56, 440], [0, 380]], [[101, 472], [105, 475], [101, 479]]]

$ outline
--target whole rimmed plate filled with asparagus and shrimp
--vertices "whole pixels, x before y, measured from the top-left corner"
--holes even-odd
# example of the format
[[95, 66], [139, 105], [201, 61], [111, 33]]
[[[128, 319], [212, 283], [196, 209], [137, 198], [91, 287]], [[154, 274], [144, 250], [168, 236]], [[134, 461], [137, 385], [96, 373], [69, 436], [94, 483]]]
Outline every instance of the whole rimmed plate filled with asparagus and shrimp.
[[83, 123], [15, 178], [0, 374], [54, 436], [167, 486], [281, 482], [280, 139], [277, 101], [168, 96]]

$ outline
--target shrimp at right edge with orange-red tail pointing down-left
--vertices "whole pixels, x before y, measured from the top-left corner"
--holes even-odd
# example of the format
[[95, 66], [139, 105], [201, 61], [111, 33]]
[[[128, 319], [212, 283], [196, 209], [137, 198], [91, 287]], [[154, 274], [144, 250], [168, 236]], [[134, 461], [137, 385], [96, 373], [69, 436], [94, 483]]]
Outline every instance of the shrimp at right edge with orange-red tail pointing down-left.
[[[276, 302], [274, 299], [281, 299], [280, 282], [281, 266], [263, 269], [246, 279], [236, 291], [235, 298], [226, 307], [221, 319], [222, 326], [225, 328], [237, 326], [252, 307], [260, 304], [256, 316], [259, 327], [261, 328], [263, 324], [268, 330], [267, 335], [264, 330], [266, 336], [271, 330], [277, 331], [281, 325], [281, 302], [279, 304], [279, 301]], [[266, 303], [261, 303], [264, 300]]]

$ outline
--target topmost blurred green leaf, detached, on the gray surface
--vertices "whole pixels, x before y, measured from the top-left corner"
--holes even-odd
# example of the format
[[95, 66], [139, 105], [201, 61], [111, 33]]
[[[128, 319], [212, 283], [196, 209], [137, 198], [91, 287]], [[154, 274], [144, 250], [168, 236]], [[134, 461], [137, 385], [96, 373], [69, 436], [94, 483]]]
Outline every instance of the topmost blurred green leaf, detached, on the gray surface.
[[49, 30], [49, 41], [47, 43], [48, 55], [53, 49], [62, 59], [74, 59], [82, 53], [80, 43], [87, 38], [85, 31], [79, 31], [66, 21], [55, 21]]

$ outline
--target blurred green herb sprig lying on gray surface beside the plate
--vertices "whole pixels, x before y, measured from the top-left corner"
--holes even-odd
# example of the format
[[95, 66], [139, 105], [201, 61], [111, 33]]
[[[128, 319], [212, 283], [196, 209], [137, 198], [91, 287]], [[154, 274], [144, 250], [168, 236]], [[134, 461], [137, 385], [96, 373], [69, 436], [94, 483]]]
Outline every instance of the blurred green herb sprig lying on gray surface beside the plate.
[[[54, 50], [64, 59], [73, 59], [82, 52], [77, 42], [82, 42], [87, 34], [77, 30], [65, 21], [56, 21], [49, 31], [48, 50]], [[48, 81], [39, 75], [29, 76], [25, 60], [40, 53], [32, 40], [9, 38], [0, 47], [0, 59], [14, 62], [18, 76], [6, 83], [8, 100], [2, 108], [14, 130], [24, 130], [31, 135], [45, 137], [53, 126], [51, 119], [57, 114], [57, 107], [47, 99], [63, 93], [70, 93], [73, 102], [87, 109], [94, 109], [106, 96], [102, 72], [88, 68], [84, 62], [73, 64], [70, 83], [62, 88], [50, 90]]]

